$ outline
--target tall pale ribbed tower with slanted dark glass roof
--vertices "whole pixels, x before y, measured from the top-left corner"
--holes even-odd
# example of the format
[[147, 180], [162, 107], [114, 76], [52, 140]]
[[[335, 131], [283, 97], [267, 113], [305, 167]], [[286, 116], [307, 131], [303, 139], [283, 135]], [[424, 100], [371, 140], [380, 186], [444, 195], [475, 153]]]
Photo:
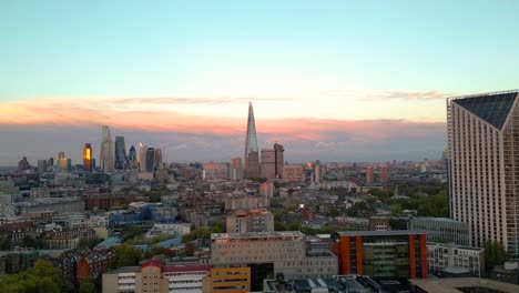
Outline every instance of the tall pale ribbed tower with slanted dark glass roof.
[[447, 99], [450, 216], [519, 257], [519, 91]]

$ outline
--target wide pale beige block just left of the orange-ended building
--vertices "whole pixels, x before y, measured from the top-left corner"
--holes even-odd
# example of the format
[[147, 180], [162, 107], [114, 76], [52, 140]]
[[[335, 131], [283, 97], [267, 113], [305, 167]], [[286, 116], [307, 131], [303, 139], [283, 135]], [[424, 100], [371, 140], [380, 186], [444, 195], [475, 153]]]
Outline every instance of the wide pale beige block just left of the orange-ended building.
[[[252, 291], [263, 280], [283, 273], [285, 279], [322, 277], [337, 274], [337, 256], [329, 251], [311, 251], [299, 231], [211, 234], [213, 265], [251, 267]], [[316, 265], [318, 264], [318, 265]]]

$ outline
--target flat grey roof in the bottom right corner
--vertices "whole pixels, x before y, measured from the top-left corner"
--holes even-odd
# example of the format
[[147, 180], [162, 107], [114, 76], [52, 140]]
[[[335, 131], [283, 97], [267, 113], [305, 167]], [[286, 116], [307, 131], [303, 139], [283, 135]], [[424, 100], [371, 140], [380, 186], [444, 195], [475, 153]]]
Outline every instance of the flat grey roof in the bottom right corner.
[[519, 292], [519, 285], [479, 277], [413, 279], [411, 284], [429, 293], [462, 293], [457, 287], [485, 287], [505, 293]]

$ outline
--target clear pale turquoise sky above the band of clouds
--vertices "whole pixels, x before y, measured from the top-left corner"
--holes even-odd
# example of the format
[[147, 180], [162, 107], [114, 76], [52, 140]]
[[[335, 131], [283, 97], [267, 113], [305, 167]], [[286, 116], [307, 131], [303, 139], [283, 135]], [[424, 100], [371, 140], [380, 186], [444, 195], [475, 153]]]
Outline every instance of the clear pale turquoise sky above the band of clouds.
[[[0, 99], [489, 91], [519, 1], [2, 1]], [[268, 88], [266, 90], [265, 88]]]

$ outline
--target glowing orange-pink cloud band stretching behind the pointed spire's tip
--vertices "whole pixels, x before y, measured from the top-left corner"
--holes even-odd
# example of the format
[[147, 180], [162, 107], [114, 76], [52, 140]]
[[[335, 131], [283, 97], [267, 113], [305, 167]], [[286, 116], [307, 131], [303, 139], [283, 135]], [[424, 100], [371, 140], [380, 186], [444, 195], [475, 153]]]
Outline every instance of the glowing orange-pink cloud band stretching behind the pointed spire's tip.
[[[99, 102], [99, 104], [98, 104]], [[100, 125], [116, 129], [181, 133], [238, 134], [246, 127], [243, 118], [225, 115], [195, 115], [165, 110], [134, 110], [102, 107], [91, 102], [10, 102], [0, 107], [0, 124], [21, 125]], [[262, 119], [256, 117], [260, 133], [320, 141], [337, 135], [387, 139], [406, 131], [420, 135], [428, 125], [437, 131], [444, 123], [409, 122], [405, 120], [337, 120], [337, 119]], [[441, 129], [444, 131], [444, 129]]]

